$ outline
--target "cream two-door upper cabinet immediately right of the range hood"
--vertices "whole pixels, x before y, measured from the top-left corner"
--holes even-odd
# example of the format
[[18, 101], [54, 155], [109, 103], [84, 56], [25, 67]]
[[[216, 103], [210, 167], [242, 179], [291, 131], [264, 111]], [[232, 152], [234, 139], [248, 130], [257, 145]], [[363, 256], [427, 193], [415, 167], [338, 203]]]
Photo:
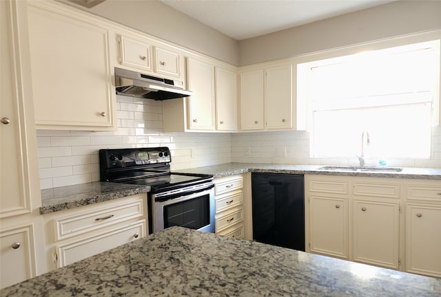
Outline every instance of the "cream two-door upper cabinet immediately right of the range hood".
[[163, 101], [163, 131], [237, 131], [236, 67], [196, 56], [188, 56], [186, 65], [193, 94]]

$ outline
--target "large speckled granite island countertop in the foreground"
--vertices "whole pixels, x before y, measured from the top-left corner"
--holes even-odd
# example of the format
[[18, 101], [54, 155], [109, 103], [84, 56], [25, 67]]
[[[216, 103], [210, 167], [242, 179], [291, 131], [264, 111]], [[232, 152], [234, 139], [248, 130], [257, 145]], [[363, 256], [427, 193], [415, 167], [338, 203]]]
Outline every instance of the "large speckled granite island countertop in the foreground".
[[418, 296], [441, 279], [172, 227], [1, 296]]

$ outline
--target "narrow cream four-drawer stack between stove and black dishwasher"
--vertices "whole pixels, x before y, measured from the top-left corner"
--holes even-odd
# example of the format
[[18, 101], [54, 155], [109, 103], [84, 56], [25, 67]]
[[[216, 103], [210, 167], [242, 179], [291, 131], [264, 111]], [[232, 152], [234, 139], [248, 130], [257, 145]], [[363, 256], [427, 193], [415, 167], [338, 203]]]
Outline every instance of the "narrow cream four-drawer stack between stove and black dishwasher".
[[243, 239], [243, 177], [233, 175], [214, 179], [216, 199], [216, 234]]

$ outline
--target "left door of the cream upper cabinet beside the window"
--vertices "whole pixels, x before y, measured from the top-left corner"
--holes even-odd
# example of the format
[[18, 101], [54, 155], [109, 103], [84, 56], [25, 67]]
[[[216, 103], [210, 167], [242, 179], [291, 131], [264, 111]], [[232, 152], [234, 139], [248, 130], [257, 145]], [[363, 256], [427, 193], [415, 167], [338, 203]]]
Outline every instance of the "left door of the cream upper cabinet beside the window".
[[240, 129], [263, 130], [263, 69], [240, 74]]

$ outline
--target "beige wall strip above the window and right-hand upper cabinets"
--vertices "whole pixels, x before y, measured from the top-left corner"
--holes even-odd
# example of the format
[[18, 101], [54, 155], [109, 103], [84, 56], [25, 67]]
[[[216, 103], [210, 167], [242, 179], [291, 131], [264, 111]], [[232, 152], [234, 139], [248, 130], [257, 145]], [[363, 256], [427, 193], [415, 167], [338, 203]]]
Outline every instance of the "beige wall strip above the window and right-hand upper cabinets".
[[441, 1], [396, 1], [239, 41], [240, 66], [441, 28]]

